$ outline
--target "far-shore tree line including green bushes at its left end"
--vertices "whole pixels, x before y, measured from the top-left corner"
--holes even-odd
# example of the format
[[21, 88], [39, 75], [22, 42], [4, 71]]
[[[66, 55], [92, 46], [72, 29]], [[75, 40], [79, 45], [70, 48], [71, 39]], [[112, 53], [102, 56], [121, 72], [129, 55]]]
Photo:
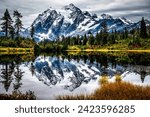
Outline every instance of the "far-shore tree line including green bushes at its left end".
[[[101, 48], [105, 45], [111, 45], [126, 40], [128, 46], [141, 47], [145, 43], [149, 43], [150, 26], [146, 26], [144, 17], [140, 21], [140, 28], [128, 30], [126, 27], [124, 31], [119, 32], [116, 29], [108, 32], [106, 20], [102, 23], [102, 30], [93, 35], [91, 32], [83, 36], [65, 37], [61, 36], [55, 41], [49, 42], [47, 40], [41, 41], [39, 44], [45, 50], [62, 50], [67, 49], [68, 46], [79, 45], [83, 49], [87, 48]], [[61, 46], [60, 46], [61, 45]]]

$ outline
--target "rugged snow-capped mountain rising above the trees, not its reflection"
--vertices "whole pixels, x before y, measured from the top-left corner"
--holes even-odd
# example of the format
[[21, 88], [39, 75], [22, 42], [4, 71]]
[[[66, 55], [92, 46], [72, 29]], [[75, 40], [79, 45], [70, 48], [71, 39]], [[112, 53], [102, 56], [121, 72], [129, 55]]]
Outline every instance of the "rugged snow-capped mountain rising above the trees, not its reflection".
[[[73, 4], [64, 6], [62, 9], [47, 9], [34, 20], [32, 25], [35, 28], [35, 39], [55, 40], [61, 36], [84, 35], [89, 32], [96, 34], [102, 29], [103, 22], [106, 21], [108, 30], [123, 31], [137, 28], [140, 23], [134, 23], [126, 18], [113, 18], [109, 14], [98, 16], [88, 11], [81, 11]], [[29, 35], [29, 27], [25, 34]]]

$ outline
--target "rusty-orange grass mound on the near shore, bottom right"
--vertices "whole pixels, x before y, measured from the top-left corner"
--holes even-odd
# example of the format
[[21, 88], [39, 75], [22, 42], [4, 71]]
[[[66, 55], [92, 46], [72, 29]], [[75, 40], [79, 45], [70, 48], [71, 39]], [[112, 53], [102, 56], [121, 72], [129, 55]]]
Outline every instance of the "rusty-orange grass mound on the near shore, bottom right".
[[91, 95], [59, 96], [59, 100], [150, 100], [150, 86], [128, 82], [106, 83]]

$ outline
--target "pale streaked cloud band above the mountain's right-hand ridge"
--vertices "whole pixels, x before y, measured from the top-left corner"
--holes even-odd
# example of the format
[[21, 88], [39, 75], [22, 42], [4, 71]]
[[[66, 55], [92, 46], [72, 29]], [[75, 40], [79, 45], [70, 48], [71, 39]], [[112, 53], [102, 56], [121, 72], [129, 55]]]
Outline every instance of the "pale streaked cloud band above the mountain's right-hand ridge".
[[150, 19], [150, 5], [149, 4], [137, 4], [135, 6], [124, 5], [118, 7], [112, 7], [109, 9], [99, 9], [93, 11], [97, 14], [109, 13], [115, 17], [126, 17], [132, 19], [133, 21], [139, 21], [141, 17]]

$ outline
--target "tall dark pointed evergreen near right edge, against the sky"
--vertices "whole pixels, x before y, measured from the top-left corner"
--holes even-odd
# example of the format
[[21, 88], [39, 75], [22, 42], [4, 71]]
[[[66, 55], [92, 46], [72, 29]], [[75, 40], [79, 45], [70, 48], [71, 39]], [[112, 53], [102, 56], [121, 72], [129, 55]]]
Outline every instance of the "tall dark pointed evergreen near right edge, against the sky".
[[144, 17], [142, 17], [142, 20], [141, 20], [140, 37], [147, 38], [147, 30], [146, 30], [146, 24], [145, 24]]

